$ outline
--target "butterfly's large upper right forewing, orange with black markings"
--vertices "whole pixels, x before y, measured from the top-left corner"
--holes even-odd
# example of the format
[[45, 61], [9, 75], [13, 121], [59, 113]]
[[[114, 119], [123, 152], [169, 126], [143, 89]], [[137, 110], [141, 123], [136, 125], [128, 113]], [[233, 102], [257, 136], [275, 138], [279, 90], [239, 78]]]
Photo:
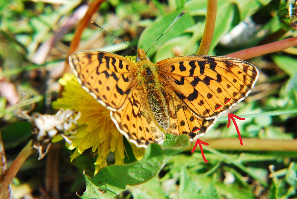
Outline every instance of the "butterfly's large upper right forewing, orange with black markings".
[[248, 62], [219, 56], [183, 56], [157, 63], [160, 82], [195, 116], [210, 120], [244, 100], [258, 71]]

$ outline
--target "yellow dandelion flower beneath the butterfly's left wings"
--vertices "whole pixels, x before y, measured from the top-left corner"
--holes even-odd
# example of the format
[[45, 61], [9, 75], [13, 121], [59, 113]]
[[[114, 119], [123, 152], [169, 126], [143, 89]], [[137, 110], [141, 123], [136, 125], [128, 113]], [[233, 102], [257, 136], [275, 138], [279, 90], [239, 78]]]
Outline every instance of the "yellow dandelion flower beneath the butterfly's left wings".
[[[53, 108], [74, 109], [81, 114], [78, 119], [79, 127], [70, 137], [72, 144], [68, 148], [75, 149], [71, 159], [91, 148], [93, 153], [97, 153], [95, 173], [107, 165], [106, 159], [110, 152], [114, 153], [115, 164], [123, 164], [125, 157], [123, 136], [112, 122], [110, 110], [86, 92], [75, 76], [65, 74], [59, 83], [64, 86], [64, 91], [62, 98], [53, 102]], [[141, 159], [144, 149], [137, 148], [134, 144], [131, 146], [136, 159]]]

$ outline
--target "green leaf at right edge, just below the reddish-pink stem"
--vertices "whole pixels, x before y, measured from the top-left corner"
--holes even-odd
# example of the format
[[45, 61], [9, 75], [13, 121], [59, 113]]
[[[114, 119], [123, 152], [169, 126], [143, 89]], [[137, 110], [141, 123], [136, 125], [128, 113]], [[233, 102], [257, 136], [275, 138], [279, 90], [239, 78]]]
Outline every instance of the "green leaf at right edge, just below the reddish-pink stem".
[[285, 56], [285, 55], [274, 55], [272, 56], [272, 59], [276, 65], [281, 68], [285, 73], [287, 73], [289, 76], [293, 76], [295, 73], [297, 73], [297, 59]]

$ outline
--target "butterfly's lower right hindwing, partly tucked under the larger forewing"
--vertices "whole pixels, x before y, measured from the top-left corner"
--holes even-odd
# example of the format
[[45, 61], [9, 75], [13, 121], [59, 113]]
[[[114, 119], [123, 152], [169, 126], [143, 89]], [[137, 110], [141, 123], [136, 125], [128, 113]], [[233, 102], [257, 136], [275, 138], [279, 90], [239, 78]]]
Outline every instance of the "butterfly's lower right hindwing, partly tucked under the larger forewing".
[[165, 91], [165, 99], [170, 123], [167, 133], [175, 135], [187, 134], [190, 141], [193, 141], [206, 134], [216, 123], [217, 118], [203, 120], [196, 117], [170, 90]]

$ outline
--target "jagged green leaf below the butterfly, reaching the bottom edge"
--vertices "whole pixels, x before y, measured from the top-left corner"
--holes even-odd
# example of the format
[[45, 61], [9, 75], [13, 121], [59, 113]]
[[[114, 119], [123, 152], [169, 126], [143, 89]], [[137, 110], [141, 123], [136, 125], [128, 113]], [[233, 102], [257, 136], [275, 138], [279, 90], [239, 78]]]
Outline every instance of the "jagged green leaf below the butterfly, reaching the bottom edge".
[[152, 144], [138, 162], [110, 165], [99, 170], [93, 179], [84, 174], [87, 186], [81, 198], [114, 198], [127, 185], [141, 184], [157, 176], [168, 160], [180, 151]]

